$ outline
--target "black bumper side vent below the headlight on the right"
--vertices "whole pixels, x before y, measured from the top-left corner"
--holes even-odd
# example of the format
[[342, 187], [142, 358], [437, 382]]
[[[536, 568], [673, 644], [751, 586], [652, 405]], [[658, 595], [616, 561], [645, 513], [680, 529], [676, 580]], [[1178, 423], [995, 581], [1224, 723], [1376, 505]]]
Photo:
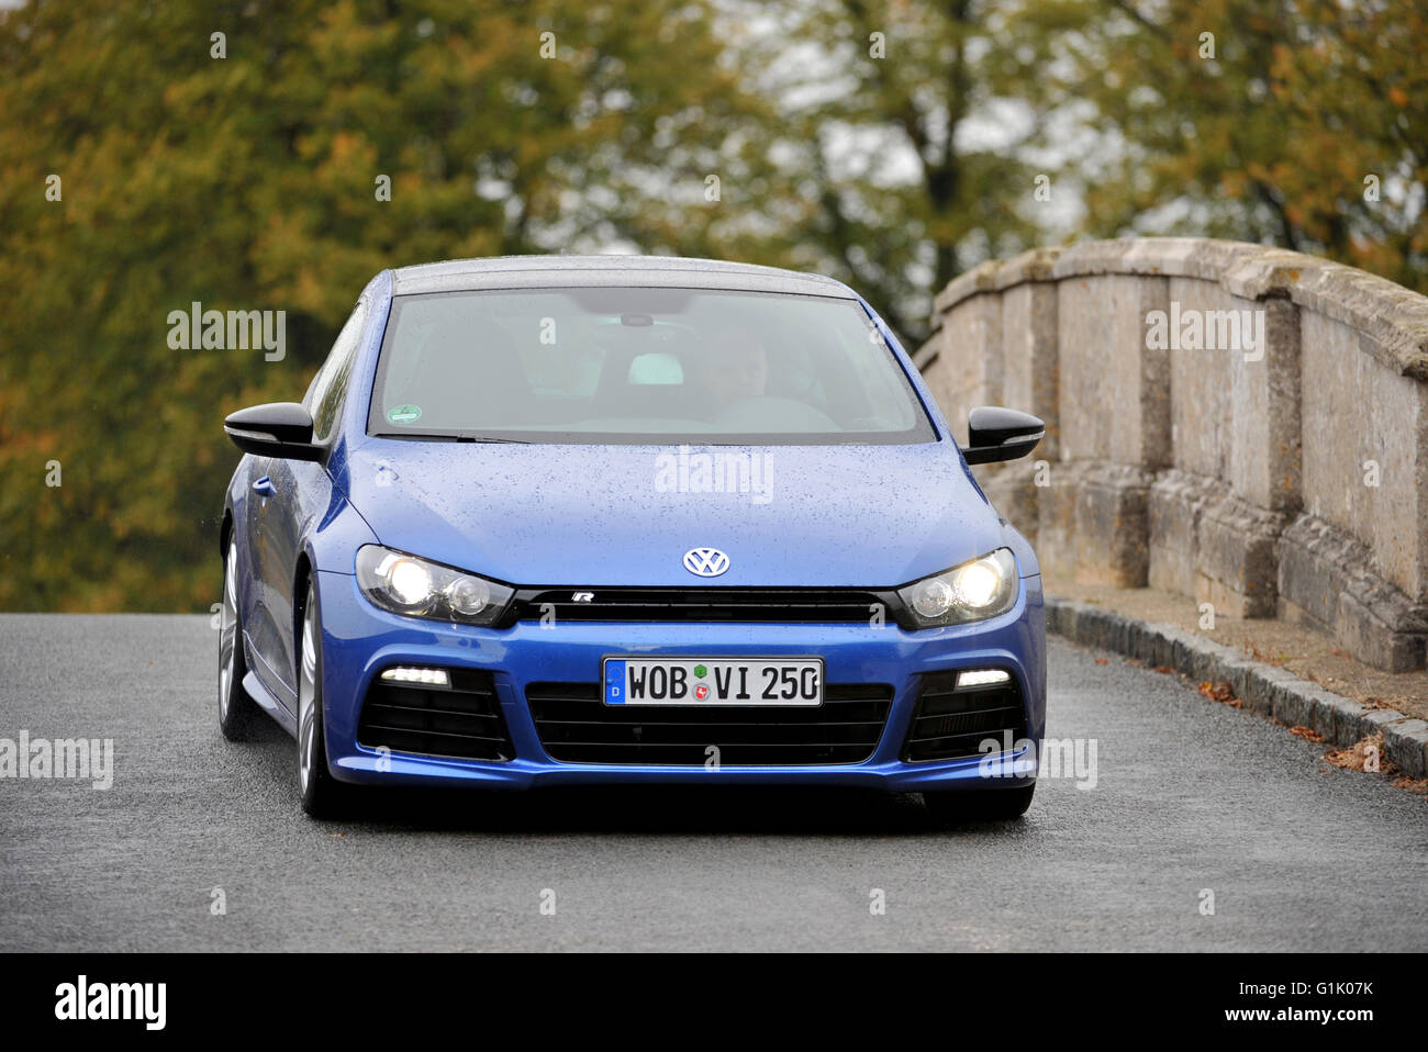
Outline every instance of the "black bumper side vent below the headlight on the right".
[[[1011, 731], [1015, 742], [1027, 737], [1027, 714], [1015, 678], [990, 687], [957, 688], [957, 672], [922, 677], [904, 759], [958, 759], [985, 755], [978, 745]], [[1001, 751], [1000, 748], [997, 749]]]

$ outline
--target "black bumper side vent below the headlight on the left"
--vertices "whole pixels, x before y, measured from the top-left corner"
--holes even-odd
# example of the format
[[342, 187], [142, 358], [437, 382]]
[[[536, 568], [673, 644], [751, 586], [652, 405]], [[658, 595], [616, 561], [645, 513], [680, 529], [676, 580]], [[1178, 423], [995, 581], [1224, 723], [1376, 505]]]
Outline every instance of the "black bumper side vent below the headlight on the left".
[[357, 724], [367, 748], [458, 759], [516, 755], [490, 672], [450, 669], [450, 687], [373, 681]]

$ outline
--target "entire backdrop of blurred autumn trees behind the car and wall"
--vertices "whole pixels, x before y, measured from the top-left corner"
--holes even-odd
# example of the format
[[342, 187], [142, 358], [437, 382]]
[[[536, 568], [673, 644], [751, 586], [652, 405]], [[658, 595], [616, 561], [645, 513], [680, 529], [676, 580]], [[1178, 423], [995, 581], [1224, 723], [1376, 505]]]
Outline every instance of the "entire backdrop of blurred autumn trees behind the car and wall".
[[[1082, 234], [1274, 243], [1428, 291], [1425, 39], [1415, 0], [0, 13], [0, 608], [207, 608], [223, 415], [297, 397], [391, 265], [790, 265], [915, 345], [937, 290], [1080, 198]], [[286, 357], [170, 348], [194, 301], [286, 311]]]

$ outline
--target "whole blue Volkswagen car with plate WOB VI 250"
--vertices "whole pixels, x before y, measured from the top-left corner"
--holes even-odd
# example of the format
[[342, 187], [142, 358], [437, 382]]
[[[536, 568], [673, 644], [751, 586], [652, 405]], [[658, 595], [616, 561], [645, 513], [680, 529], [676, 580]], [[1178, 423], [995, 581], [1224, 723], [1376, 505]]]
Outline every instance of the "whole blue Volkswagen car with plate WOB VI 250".
[[301, 403], [231, 414], [218, 719], [357, 785], [843, 785], [1031, 802], [1041, 575], [873, 308], [663, 257], [378, 274]]

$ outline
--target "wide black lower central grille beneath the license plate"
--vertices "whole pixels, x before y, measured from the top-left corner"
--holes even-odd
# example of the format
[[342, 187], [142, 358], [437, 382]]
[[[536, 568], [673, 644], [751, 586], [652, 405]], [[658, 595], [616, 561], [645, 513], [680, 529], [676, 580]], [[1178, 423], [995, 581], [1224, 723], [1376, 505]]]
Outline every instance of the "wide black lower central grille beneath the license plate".
[[536, 731], [565, 764], [721, 767], [860, 764], [873, 755], [892, 708], [887, 684], [827, 684], [817, 708], [605, 705], [600, 684], [530, 684]]

